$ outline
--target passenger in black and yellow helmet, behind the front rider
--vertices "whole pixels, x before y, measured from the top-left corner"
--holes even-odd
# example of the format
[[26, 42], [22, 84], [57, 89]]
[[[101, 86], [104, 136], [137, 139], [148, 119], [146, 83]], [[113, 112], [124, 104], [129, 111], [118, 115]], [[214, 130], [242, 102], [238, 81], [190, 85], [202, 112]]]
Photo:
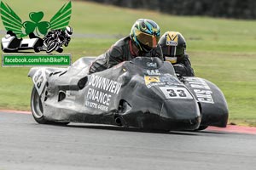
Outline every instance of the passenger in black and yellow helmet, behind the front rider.
[[166, 61], [170, 61], [178, 77], [195, 77], [189, 55], [186, 54], [186, 41], [177, 31], [166, 31], [160, 37], [160, 47]]

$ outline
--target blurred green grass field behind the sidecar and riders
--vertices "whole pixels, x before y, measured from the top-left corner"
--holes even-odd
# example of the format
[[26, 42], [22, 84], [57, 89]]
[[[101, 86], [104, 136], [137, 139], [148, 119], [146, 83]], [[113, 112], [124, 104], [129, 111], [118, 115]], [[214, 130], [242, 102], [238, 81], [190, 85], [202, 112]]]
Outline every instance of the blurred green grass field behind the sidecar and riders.
[[[43, 20], [61, 8], [64, 0], [6, 0], [23, 20], [30, 12], [44, 12]], [[128, 36], [138, 18], [157, 22], [161, 33], [180, 31], [187, 41], [196, 77], [203, 77], [223, 90], [230, 109], [229, 123], [256, 126], [256, 22], [210, 17], [183, 17], [144, 9], [117, 8], [98, 3], [72, 1], [70, 26], [73, 37], [64, 53], [73, 62], [82, 56], [104, 53], [120, 37]], [[2, 21], [1, 36], [5, 35]], [[2, 54], [2, 52], [1, 52]], [[30, 67], [0, 68], [0, 109], [30, 111]]]

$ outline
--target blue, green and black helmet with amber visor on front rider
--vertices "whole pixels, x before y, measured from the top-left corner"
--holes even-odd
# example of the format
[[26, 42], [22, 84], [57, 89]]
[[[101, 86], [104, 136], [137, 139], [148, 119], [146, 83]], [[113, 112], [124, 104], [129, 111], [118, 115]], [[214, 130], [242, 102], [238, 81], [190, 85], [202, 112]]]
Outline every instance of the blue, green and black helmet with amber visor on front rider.
[[153, 20], [138, 19], [131, 27], [130, 37], [139, 50], [148, 52], [157, 46], [160, 27]]

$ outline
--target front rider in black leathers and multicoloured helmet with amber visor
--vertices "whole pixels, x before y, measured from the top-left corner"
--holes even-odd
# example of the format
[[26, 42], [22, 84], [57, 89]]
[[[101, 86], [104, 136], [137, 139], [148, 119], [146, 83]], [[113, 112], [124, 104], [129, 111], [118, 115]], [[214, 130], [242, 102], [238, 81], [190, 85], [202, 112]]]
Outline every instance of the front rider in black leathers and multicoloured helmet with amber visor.
[[119, 39], [105, 54], [98, 56], [90, 65], [89, 73], [104, 71], [137, 56], [159, 57], [163, 60], [159, 38], [160, 27], [153, 20], [138, 19], [131, 27], [130, 36]]

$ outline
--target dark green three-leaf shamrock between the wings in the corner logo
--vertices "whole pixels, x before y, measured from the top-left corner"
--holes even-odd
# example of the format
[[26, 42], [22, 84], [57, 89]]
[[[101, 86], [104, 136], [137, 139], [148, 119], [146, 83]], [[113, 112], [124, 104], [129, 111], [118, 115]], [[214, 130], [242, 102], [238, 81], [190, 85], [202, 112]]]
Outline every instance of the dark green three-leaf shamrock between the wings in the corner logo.
[[30, 13], [29, 18], [32, 21], [25, 21], [22, 24], [27, 35], [35, 30], [38, 36], [40, 35], [38, 31], [43, 35], [47, 33], [50, 24], [47, 21], [41, 21], [44, 18], [44, 13], [42, 11]]

